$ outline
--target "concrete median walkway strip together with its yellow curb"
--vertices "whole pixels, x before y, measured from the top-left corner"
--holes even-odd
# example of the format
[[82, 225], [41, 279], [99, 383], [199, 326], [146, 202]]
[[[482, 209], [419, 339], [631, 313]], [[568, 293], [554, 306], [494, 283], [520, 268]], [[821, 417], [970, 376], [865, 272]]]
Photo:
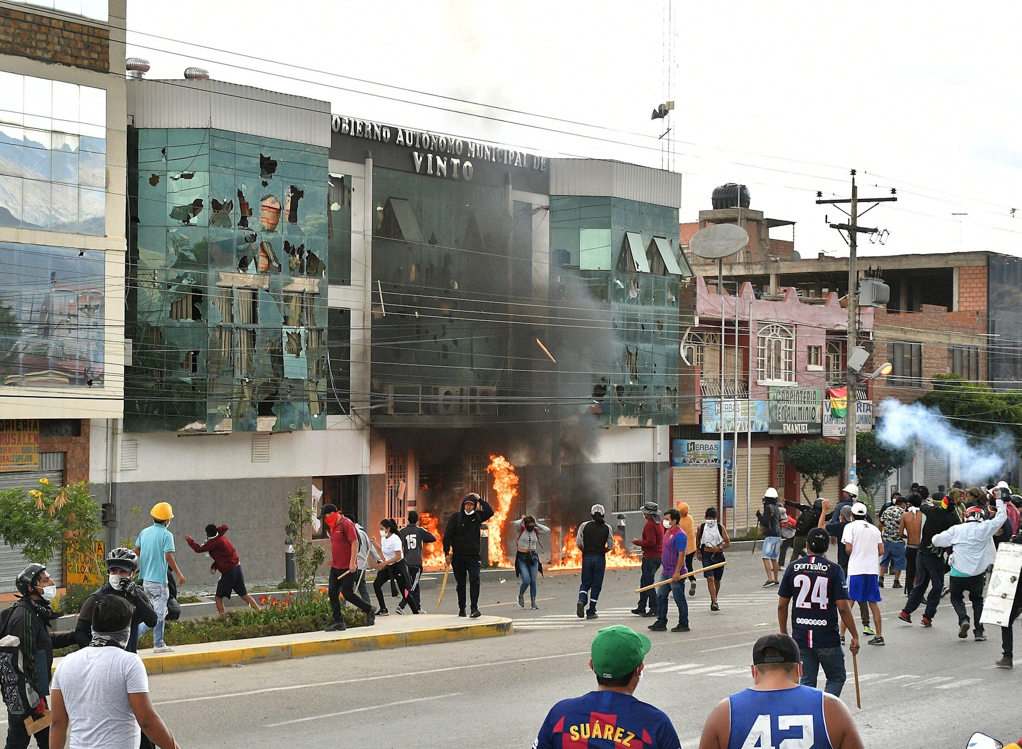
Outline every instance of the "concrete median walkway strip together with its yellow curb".
[[500, 616], [466, 619], [449, 614], [409, 614], [378, 617], [374, 626], [349, 627], [342, 632], [303, 632], [202, 645], [178, 645], [174, 647], [173, 653], [166, 655], [154, 655], [151, 650], [140, 650], [138, 654], [148, 673], [168, 673], [235, 663], [496, 637], [512, 631], [511, 619]]

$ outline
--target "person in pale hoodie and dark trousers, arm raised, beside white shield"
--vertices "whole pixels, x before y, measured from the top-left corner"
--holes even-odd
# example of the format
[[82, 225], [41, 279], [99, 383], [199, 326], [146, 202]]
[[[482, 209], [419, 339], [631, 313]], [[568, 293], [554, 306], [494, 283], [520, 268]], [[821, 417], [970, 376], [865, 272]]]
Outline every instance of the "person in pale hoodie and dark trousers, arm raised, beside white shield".
[[965, 607], [965, 593], [969, 593], [976, 626], [972, 632], [977, 643], [986, 640], [983, 634], [983, 585], [986, 582], [986, 568], [993, 564], [996, 552], [993, 548], [993, 534], [1005, 524], [1008, 513], [1005, 500], [998, 498], [996, 514], [985, 520], [983, 508], [969, 508], [965, 511], [965, 523], [951, 526], [933, 536], [931, 542], [937, 547], [951, 546], [951, 606], [959, 616], [959, 636], [969, 636], [969, 613]]

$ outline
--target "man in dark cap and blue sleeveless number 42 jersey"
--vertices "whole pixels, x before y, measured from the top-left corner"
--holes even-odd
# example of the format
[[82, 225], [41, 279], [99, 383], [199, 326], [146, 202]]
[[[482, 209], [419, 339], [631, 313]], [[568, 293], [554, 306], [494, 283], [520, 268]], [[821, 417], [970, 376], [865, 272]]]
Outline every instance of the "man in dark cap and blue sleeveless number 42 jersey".
[[752, 646], [755, 684], [714, 707], [699, 749], [864, 749], [851, 713], [837, 697], [798, 684], [798, 644], [765, 634]]

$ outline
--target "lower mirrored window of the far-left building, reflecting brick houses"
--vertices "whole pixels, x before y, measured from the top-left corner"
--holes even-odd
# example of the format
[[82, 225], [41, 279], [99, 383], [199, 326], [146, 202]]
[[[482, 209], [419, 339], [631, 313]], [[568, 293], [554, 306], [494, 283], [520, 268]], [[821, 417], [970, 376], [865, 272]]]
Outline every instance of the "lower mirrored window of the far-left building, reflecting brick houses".
[[0, 384], [101, 386], [102, 252], [0, 243]]

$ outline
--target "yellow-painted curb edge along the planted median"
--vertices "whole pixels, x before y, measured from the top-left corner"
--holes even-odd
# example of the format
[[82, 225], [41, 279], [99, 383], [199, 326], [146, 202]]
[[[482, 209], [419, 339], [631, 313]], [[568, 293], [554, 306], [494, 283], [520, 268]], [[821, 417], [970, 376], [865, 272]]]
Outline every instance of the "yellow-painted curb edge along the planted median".
[[[359, 627], [360, 629], [362, 627]], [[511, 634], [514, 626], [511, 619], [499, 617], [498, 621], [484, 624], [455, 624], [430, 629], [381, 632], [379, 634], [339, 635], [330, 640], [307, 640], [293, 643], [260, 645], [261, 640], [238, 640], [237, 647], [204, 651], [200, 653], [169, 653], [167, 655], [144, 655], [142, 662], [147, 673], [171, 673], [191, 671], [200, 668], [216, 668], [243, 663], [279, 661], [290, 658], [306, 658], [316, 655], [338, 653], [363, 653], [370, 650], [405, 648], [414, 645], [454, 643], [464, 640], [497, 637]], [[293, 636], [293, 635], [287, 635]]]

